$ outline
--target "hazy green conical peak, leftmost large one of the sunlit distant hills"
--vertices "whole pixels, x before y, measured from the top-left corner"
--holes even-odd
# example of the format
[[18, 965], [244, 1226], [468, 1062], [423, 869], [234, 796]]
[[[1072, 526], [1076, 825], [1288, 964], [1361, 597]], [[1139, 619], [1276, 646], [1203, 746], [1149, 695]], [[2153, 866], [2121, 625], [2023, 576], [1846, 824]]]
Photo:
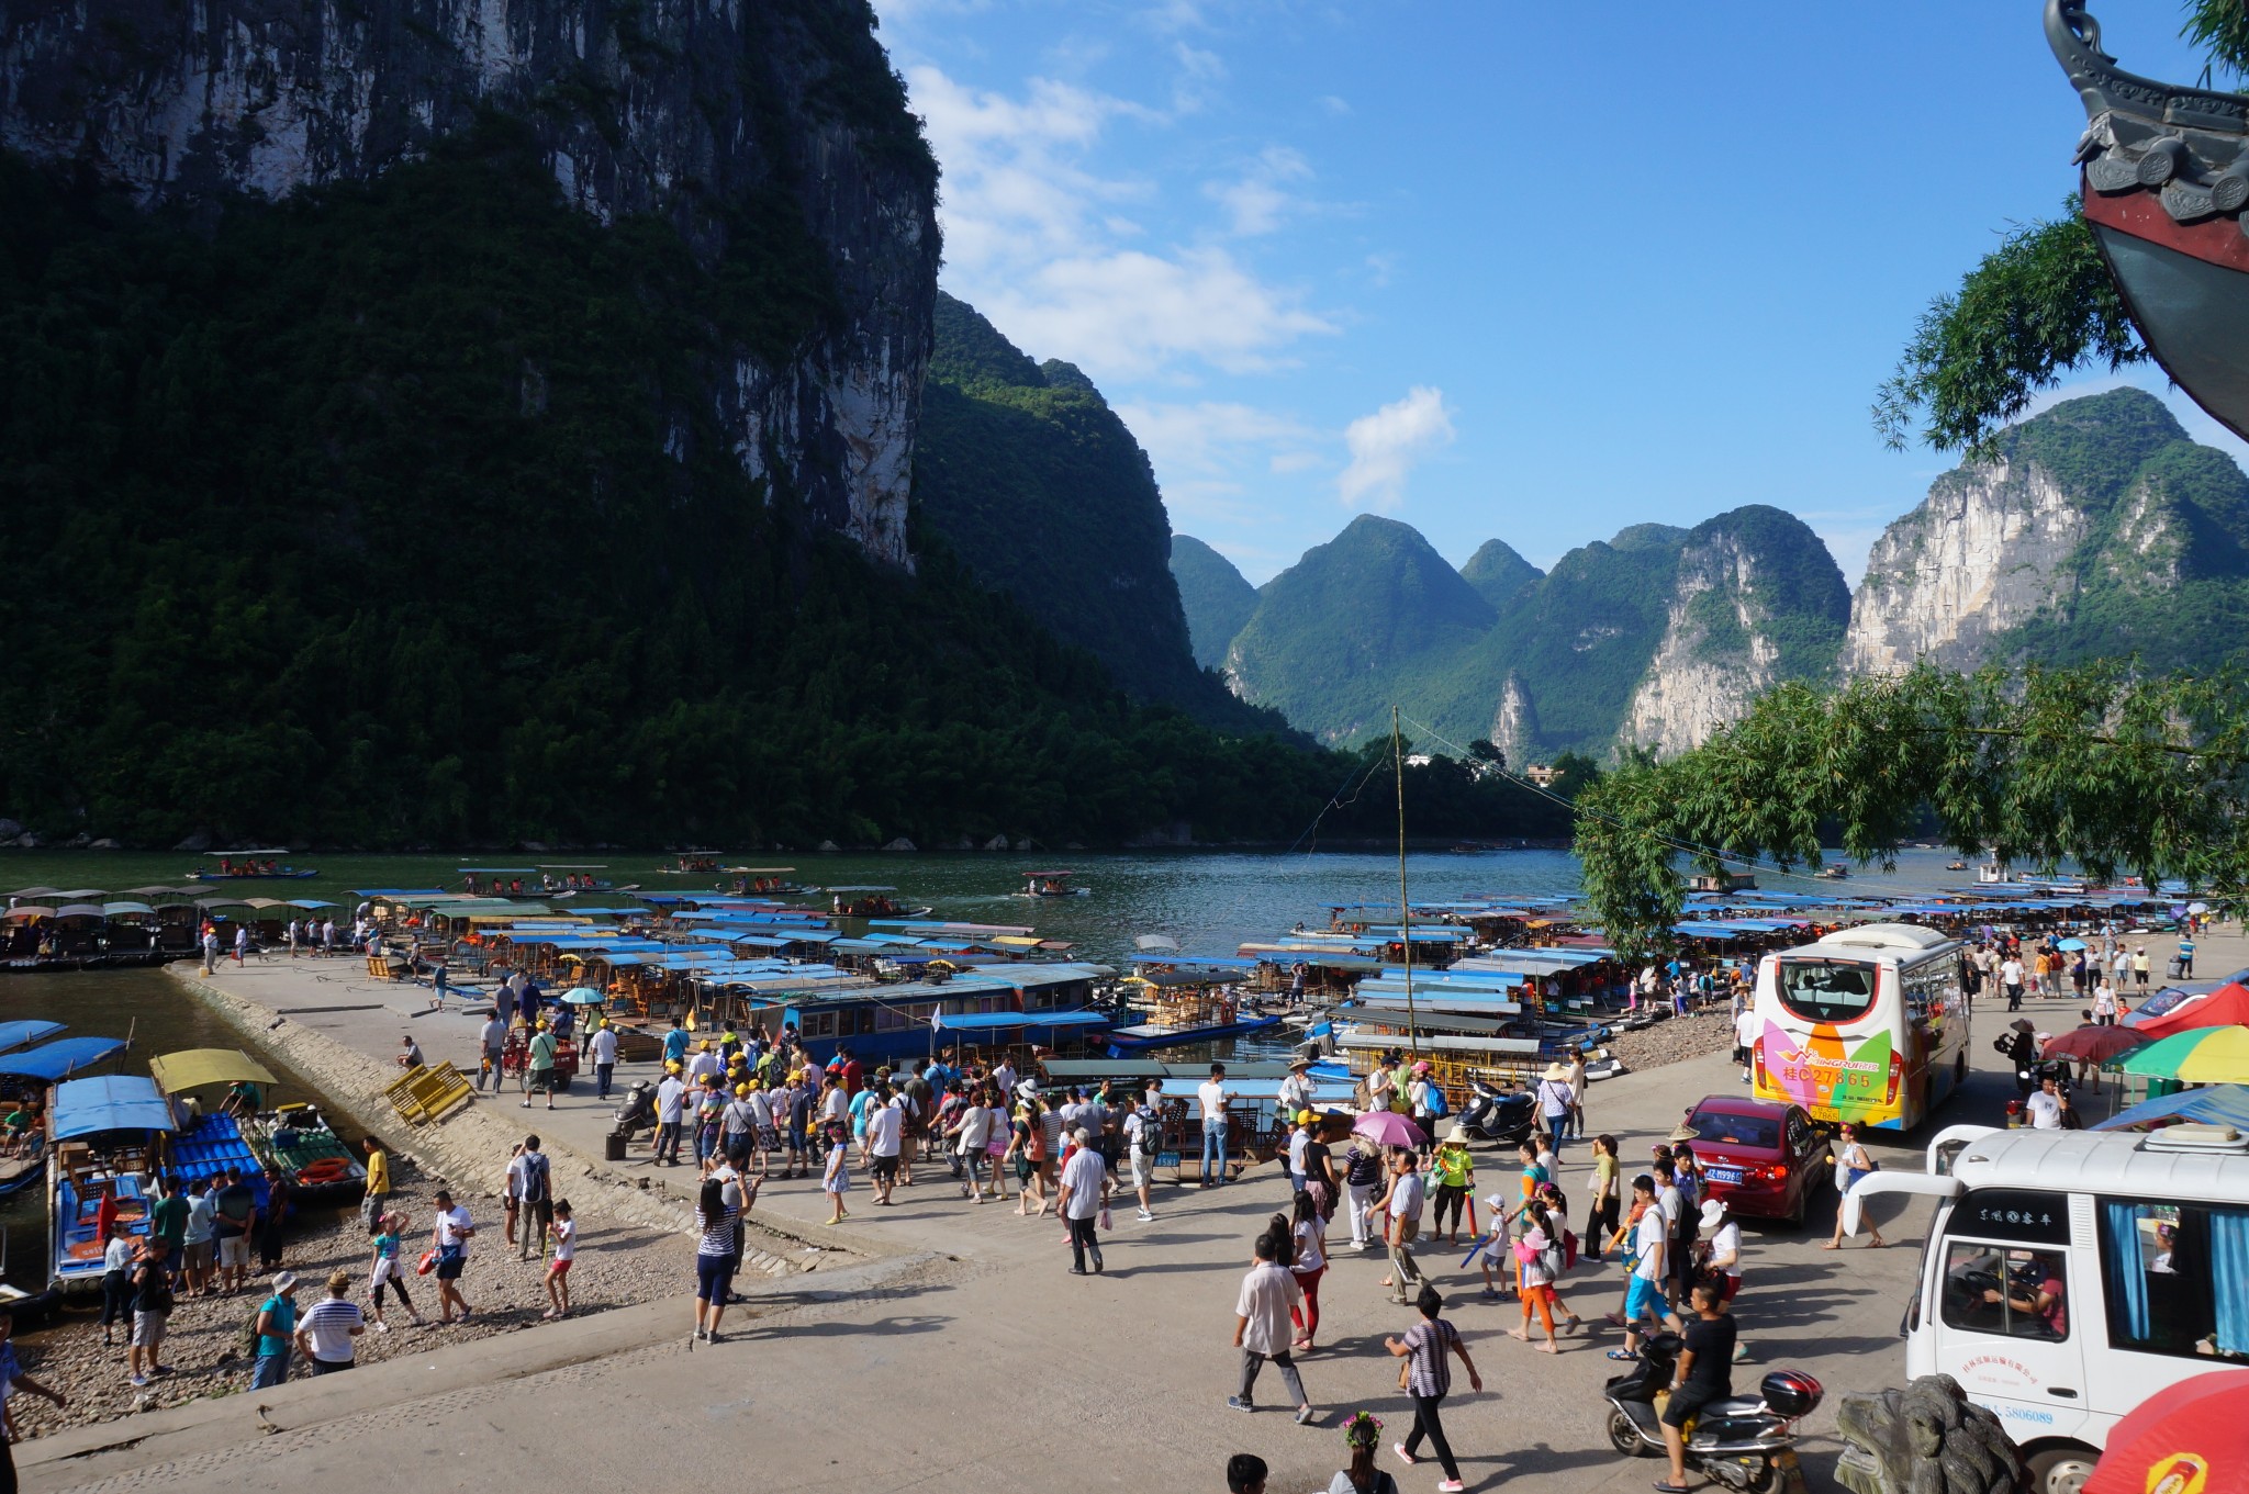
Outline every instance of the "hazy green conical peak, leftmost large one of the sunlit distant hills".
[[1403, 669], [1491, 622], [1491, 604], [1417, 530], [1361, 514], [1264, 584], [1226, 669], [1246, 699], [1322, 741], [1361, 741], [1390, 730]]

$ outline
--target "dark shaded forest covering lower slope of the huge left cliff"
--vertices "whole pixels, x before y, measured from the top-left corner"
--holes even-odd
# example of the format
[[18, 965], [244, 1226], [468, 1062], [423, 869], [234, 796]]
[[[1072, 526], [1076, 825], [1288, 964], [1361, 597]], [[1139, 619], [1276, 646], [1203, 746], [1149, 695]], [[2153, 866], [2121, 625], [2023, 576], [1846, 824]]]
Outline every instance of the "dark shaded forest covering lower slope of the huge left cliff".
[[[0, 155], [0, 811], [137, 842], [1298, 836], [1352, 759], [1136, 705], [942, 550], [873, 566], [744, 474], [704, 359], [828, 315], [789, 240], [713, 270], [605, 227], [506, 124], [193, 213]], [[1091, 411], [1053, 420], [1100, 447]], [[1442, 833], [1554, 831], [1511, 789], [1464, 813]]]

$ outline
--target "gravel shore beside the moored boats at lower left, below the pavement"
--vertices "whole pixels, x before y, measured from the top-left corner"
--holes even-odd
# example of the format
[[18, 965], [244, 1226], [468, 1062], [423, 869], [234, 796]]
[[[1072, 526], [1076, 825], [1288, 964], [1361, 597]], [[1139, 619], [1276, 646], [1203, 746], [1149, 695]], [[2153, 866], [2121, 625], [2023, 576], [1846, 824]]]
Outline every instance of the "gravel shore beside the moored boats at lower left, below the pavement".
[[[409, 1269], [407, 1292], [423, 1317], [434, 1323], [436, 1278], [414, 1276], [412, 1263], [427, 1249], [430, 1220], [436, 1213], [432, 1193], [439, 1184], [409, 1177], [405, 1168], [394, 1182], [391, 1209], [407, 1215], [407, 1233], [400, 1242], [400, 1258]], [[475, 1317], [450, 1328], [414, 1328], [396, 1301], [387, 1301], [385, 1317], [391, 1332], [376, 1332], [369, 1323], [369, 1332], [353, 1341], [360, 1364], [540, 1326], [540, 1314], [547, 1310], [542, 1285], [547, 1263], [517, 1260], [515, 1247], [504, 1242], [506, 1213], [497, 1197], [463, 1195], [461, 1188], [454, 1188], [454, 1195], [457, 1202], [468, 1204], [477, 1222], [468, 1272], [461, 1276], [461, 1294], [475, 1308]], [[582, 1213], [578, 1229], [578, 1258], [569, 1274], [571, 1317], [693, 1292], [693, 1240], [632, 1224], [605, 1227]], [[371, 1256], [373, 1249], [360, 1231], [358, 1209], [349, 1209], [335, 1215], [299, 1215], [281, 1265], [299, 1276], [299, 1308], [326, 1296], [328, 1274], [342, 1267], [353, 1276], [353, 1301], [367, 1310]], [[243, 1321], [259, 1310], [268, 1294], [268, 1274], [261, 1274], [252, 1276], [252, 1285], [234, 1296], [182, 1296], [164, 1334], [164, 1364], [173, 1373], [153, 1379], [146, 1388], [135, 1388], [126, 1379], [124, 1330], [117, 1330], [115, 1348], [101, 1343], [99, 1296], [74, 1301], [58, 1323], [16, 1339], [22, 1370], [61, 1391], [70, 1402], [56, 1411], [38, 1395], [18, 1393], [9, 1404], [18, 1436], [38, 1436], [61, 1427], [103, 1422], [135, 1411], [250, 1388], [250, 1364], [241, 1357], [238, 1339]], [[686, 1328], [688, 1319], [681, 1317], [681, 1332]], [[308, 1373], [297, 1355], [292, 1375]]]

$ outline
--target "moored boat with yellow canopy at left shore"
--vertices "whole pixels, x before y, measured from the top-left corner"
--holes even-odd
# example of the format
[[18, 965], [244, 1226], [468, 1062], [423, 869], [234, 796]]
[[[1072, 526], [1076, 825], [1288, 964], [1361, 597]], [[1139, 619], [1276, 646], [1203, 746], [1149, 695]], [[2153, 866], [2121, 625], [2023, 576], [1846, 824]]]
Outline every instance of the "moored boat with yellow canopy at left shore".
[[[180, 1135], [173, 1170], [182, 1179], [243, 1170], [265, 1206], [263, 1168], [290, 1179], [299, 1204], [349, 1204], [367, 1191], [367, 1166], [310, 1103], [277, 1105], [279, 1081], [256, 1058], [232, 1047], [191, 1047], [148, 1060], [148, 1076], [173, 1105]], [[225, 1092], [247, 1085], [250, 1108], [223, 1114]]]

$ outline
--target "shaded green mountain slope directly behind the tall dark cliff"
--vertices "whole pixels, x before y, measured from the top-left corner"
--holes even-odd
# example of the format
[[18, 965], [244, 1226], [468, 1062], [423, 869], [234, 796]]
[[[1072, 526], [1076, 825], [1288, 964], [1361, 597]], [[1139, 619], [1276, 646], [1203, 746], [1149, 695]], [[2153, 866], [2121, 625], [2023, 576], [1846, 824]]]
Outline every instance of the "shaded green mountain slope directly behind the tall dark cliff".
[[1203, 672], [1156, 474], [1093, 382], [1064, 362], [1035, 364], [945, 292], [913, 501], [983, 584], [1091, 652], [1133, 696], [1235, 730], [1286, 730]]

